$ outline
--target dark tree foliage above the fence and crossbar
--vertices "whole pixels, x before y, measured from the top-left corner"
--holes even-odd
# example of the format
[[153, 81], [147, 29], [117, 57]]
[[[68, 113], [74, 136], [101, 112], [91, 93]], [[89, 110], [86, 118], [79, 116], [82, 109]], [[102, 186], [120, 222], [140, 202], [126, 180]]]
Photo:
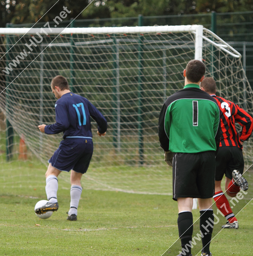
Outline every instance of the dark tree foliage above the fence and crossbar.
[[[238, 11], [253, 11], [252, 0], [2, 0], [0, 2], [0, 27], [6, 23], [24, 24], [52, 21], [63, 6], [71, 11], [70, 18], [75, 18], [90, 3], [78, 19], [123, 18], [160, 15], [182, 15]], [[51, 9], [48, 13], [47, 11]], [[43, 16], [47, 13], [45, 16]]]

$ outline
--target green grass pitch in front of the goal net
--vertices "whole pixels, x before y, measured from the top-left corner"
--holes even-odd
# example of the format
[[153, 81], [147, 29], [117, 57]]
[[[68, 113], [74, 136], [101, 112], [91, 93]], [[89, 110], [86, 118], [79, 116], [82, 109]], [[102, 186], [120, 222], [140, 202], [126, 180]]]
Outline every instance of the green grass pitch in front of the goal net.
[[[59, 179], [60, 208], [43, 220], [35, 215], [34, 206], [46, 199], [46, 167], [40, 163], [16, 162], [2, 165], [1, 170], [0, 255], [161, 256], [178, 239], [177, 204], [171, 196], [85, 190], [83, 182], [78, 221], [70, 222], [66, 220], [70, 184]], [[168, 168], [168, 176], [171, 175]], [[171, 185], [169, 190], [172, 192]], [[214, 256], [253, 253], [253, 201], [244, 207], [251, 195], [233, 208], [235, 214], [242, 209], [237, 216], [238, 230], [222, 230], [217, 234], [225, 223], [224, 217], [215, 225], [213, 237], [217, 236], [210, 246]], [[215, 205], [213, 208], [216, 212]], [[193, 221], [198, 217], [199, 210], [193, 210]], [[196, 221], [193, 236], [198, 231], [199, 221]], [[176, 256], [179, 250], [178, 240], [164, 255]], [[193, 255], [200, 250], [198, 241], [192, 249]]]

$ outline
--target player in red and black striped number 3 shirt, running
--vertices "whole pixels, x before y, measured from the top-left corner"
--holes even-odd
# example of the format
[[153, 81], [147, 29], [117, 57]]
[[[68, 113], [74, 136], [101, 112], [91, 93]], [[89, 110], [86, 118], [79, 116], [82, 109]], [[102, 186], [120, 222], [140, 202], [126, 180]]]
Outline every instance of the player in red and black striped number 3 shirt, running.
[[[240, 191], [248, 189], [249, 185], [242, 177], [244, 159], [242, 143], [249, 139], [253, 128], [253, 118], [246, 111], [229, 100], [218, 97], [216, 83], [213, 78], [204, 78], [201, 89], [215, 98], [221, 112], [221, 142], [216, 156], [215, 195], [213, 196], [217, 208], [224, 214], [227, 224], [223, 228], [238, 228], [238, 221], [230, 208], [230, 204], [221, 189], [221, 180], [225, 174], [225, 189], [227, 195], [235, 197]], [[236, 123], [242, 126], [237, 132]]]

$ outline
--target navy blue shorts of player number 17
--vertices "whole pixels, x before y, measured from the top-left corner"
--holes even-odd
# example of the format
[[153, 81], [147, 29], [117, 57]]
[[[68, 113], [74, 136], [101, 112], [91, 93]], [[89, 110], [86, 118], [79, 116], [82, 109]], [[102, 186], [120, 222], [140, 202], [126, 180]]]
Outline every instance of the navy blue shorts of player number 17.
[[92, 153], [92, 139], [67, 138], [61, 141], [59, 148], [48, 162], [60, 171], [72, 169], [84, 174], [89, 167]]

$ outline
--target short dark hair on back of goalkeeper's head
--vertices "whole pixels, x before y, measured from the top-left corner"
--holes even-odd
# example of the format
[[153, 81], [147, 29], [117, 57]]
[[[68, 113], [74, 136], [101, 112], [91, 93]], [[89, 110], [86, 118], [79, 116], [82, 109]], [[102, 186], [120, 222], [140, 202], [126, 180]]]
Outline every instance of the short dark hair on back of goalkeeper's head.
[[206, 66], [201, 61], [192, 60], [187, 64], [185, 71], [188, 82], [199, 82], [206, 72]]

